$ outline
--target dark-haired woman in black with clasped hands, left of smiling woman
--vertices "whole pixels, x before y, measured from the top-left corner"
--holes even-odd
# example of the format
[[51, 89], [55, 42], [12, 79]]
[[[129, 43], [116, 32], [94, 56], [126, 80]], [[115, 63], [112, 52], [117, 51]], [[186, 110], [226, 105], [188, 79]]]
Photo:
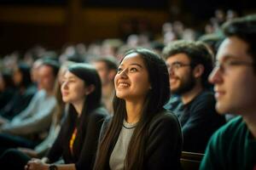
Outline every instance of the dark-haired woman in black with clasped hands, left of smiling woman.
[[[10, 150], [0, 158], [0, 167], [15, 170], [24, 167], [27, 170], [92, 169], [102, 122], [108, 116], [101, 106], [102, 86], [96, 69], [87, 64], [70, 65], [64, 74], [61, 94], [63, 101], [69, 104], [67, 117], [47, 156], [30, 160], [23, 153]], [[60, 159], [64, 164], [55, 163]], [[8, 160], [16, 163], [6, 165]]]

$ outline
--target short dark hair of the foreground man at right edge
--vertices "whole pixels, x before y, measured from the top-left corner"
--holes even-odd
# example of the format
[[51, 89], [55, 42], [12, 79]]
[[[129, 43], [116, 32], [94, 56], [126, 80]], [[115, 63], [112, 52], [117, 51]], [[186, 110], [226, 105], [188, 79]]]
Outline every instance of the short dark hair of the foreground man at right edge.
[[225, 22], [222, 31], [225, 37], [238, 37], [247, 43], [247, 53], [252, 56], [256, 71], [256, 14]]

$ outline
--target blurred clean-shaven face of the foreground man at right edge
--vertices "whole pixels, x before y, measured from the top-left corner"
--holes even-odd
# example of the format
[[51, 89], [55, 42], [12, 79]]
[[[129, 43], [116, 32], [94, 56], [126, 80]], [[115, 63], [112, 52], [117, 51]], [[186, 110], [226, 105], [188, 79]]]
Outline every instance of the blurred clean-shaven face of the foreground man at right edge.
[[247, 43], [228, 37], [218, 48], [217, 66], [209, 81], [214, 84], [219, 113], [248, 114], [256, 109], [256, 75]]

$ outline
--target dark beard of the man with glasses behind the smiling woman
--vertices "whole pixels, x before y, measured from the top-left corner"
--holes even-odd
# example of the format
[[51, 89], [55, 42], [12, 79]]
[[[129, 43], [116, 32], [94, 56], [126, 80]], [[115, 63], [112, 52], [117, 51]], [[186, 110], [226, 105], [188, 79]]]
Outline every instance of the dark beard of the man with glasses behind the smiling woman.
[[189, 77], [187, 79], [179, 80], [182, 82], [177, 89], [171, 90], [172, 94], [183, 95], [195, 87], [195, 77], [193, 77], [192, 73], [189, 74]]

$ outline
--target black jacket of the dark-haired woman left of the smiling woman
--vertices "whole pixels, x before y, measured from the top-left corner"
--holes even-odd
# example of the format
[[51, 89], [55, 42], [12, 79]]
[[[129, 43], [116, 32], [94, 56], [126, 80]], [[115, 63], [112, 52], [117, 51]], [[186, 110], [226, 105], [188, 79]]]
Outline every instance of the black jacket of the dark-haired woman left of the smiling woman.
[[[49, 161], [57, 161], [62, 156], [65, 163], [74, 163], [77, 170], [92, 169], [96, 157], [98, 137], [106, 116], [108, 116], [108, 112], [103, 108], [98, 108], [87, 116], [80, 116], [80, 118], [67, 116], [69, 118], [63, 122], [61, 131], [49, 150], [47, 156]], [[70, 120], [72, 121], [70, 122]], [[83, 123], [84, 126], [81, 129], [78, 128], [72, 154], [69, 149], [69, 141], [73, 129], [79, 127], [80, 123]]]

